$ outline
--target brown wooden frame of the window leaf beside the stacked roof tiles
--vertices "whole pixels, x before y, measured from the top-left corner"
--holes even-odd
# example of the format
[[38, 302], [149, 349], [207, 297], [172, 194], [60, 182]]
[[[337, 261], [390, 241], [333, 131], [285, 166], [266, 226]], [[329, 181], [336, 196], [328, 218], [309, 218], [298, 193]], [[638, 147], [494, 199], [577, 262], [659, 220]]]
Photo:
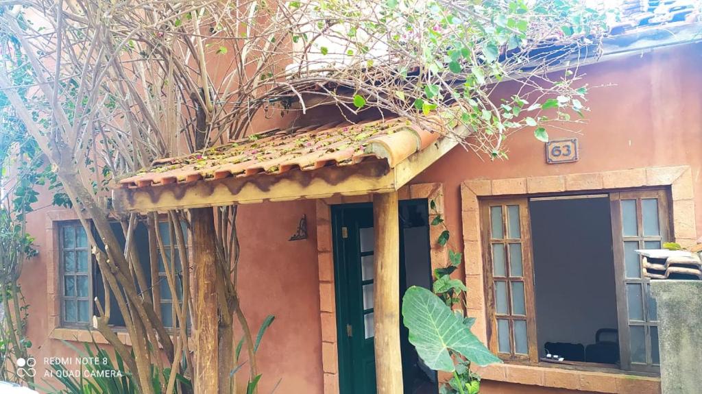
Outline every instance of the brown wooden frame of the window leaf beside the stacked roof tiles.
[[[660, 372], [660, 365], [654, 365], [651, 358], [651, 326], [658, 326], [657, 320], [649, 320], [647, 318], [649, 299], [646, 297], [645, 287], [650, 280], [647, 278], [627, 278], [625, 275], [624, 265], [624, 242], [637, 241], [639, 247], [644, 248], [646, 241], [658, 241], [663, 243], [672, 239], [672, 229], [670, 228], [671, 212], [670, 212], [670, 196], [669, 191], [665, 189], [643, 189], [633, 191], [618, 191], [609, 193], [611, 203], [611, 221], [612, 221], [612, 241], [614, 248], [614, 276], [616, 280], [616, 300], [617, 300], [617, 320], [619, 332], [619, 353], [621, 369], [636, 371], [636, 372]], [[658, 226], [660, 234], [658, 236], [644, 236], [643, 233], [643, 218], [642, 218], [642, 203], [641, 201], [648, 198], [656, 198], [658, 200]], [[636, 222], [637, 236], [623, 235], [623, 217], [621, 212], [622, 200], [636, 201]], [[626, 294], [626, 285], [628, 283], [640, 283], [642, 285], [642, 302], [644, 321], [635, 322], [632, 324], [629, 319], [628, 299]], [[645, 327], [644, 338], [646, 346], [647, 364], [631, 362], [630, 354], [630, 325], [642, 325]], [[623, 346], [624, 345], [624, 346]]]

